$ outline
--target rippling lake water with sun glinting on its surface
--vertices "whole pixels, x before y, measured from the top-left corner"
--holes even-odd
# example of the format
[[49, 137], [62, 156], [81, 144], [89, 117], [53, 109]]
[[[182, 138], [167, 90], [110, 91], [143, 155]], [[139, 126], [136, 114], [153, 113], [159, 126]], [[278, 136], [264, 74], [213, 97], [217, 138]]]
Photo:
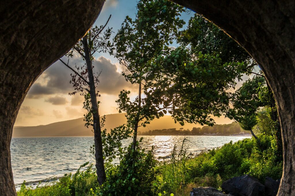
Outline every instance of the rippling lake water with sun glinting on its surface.
[[[142, 136], [144, 148], [155, 146], [155, 157], [168, 158], [173, 146], [181, 146], [185, 136]], [[225, 143], [236, 142], [247, 137], [242, 136], [188, 136], [186, 147], [189, 153], [197, 155], [202, 151], [217, 148]], [[248, 137], [249, 138], [249, 137]], [[74, 173], [80, 165], [94, 159], [90, 154], [93, 137], [44, 137], [12, 138], [11, 163], [16, 187], [26, 180], [33, 184], [36, 181]], [[129, 140], [124, 141], [128, 145]], [[162, 159], [163, 160], [163, 159]]]

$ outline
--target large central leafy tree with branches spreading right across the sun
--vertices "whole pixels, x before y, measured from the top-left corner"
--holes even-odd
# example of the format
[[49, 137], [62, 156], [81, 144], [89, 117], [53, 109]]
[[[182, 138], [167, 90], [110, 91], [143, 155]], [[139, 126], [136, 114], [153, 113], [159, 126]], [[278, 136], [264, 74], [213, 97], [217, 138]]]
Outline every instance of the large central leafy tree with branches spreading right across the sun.
[[137, 18], [132, 21], [127, 16], [114, 38], [114, 55], [126, 67], [123, 75], [139, 85], [135, 101], [125, 90], [117, 100], [119, 112], [127, 113], [128, 124], [134, 129], [133, 146], [138, 126], [166, 113], [181, 125], [213, 125], [210, 112], [220, 116], [220, 108], [228, 107], [227, 91], [242, 76], [236, 67], [245, 69], [247, 65], [223, 63], [219, 54], [202, 54], [183, 46], [171, 50], [168, 43], [173, 43], [184, 24], [177, 17], [184, 11], [178, 5], [164, 0], [139, 1], [137, 10]]

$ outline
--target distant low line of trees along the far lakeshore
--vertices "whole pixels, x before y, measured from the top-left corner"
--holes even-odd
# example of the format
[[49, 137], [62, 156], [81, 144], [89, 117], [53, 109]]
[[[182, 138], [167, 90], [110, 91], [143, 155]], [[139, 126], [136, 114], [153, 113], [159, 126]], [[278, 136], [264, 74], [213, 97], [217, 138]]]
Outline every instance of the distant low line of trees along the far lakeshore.
[[192, 130], [184, 130], [183, 128], [179, 130], [176, 130], [176, 128], [162, 130], [155, 129], [146, 132], [139, 132], [139, 135], [232, 135], [244, 133], [249, 133], [249, 131], [243, 130], [238, 123], [232, 122], [231, 124], [215, 124], [213, 126], [204, 126], [202, 128], [194, 127]]

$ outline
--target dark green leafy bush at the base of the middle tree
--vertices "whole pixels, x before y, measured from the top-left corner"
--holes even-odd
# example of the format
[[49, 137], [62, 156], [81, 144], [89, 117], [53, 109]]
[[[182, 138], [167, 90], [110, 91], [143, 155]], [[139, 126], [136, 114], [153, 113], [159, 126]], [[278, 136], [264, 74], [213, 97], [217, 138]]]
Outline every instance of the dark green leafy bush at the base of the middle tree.
[[[140, 140], [141, 141], [141, 140]], [[157, 191], [153, 148], [145, 152], [137, 141], [135, 151], [129, 145], [119, 165], [112, 165], [107, 181], [98, 187], [97, 195], [155, 195]]]

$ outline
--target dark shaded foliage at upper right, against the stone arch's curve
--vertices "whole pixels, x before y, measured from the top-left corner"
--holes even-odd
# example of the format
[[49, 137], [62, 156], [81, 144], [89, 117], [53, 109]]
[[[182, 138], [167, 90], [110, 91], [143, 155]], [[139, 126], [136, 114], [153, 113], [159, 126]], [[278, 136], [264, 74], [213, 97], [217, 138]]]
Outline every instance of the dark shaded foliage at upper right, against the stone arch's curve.
[[195, 51], [203, 54], [214, 56], [218, 54], [223, 62], [244, 61], [250, 65], [247, 67], [248, 71], [251, 71], [252, 67], [256, 65], [253, 58], [242, 46], [199, 14], [191, 17], [187, 29], [179, 33], [178, 43], [181, 46], [194, 48]]

